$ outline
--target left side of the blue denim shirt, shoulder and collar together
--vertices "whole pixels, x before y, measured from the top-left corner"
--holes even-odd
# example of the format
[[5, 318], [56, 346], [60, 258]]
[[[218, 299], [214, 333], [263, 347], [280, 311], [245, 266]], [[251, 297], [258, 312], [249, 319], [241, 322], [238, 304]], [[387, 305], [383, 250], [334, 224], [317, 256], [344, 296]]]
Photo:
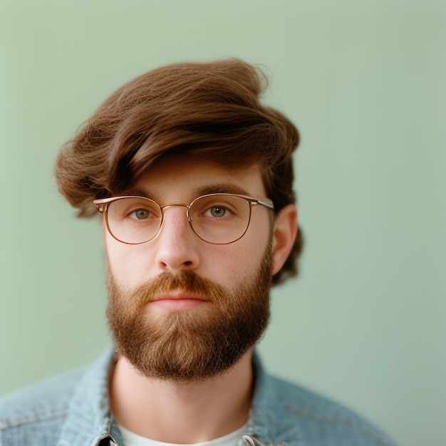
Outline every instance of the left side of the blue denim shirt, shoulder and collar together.
[[0, 398], [0, 446], [92, 444], [108, 426], [113, 346], [90, 365]]

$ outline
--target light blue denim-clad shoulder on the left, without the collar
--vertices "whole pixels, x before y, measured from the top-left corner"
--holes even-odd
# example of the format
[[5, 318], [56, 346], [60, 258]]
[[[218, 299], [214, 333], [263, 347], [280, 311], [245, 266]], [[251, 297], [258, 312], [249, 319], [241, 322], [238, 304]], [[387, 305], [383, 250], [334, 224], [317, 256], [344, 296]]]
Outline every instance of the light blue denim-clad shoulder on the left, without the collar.
[[56, 444], [82, 375], [77, 370], [0, 398], [0, 445]]

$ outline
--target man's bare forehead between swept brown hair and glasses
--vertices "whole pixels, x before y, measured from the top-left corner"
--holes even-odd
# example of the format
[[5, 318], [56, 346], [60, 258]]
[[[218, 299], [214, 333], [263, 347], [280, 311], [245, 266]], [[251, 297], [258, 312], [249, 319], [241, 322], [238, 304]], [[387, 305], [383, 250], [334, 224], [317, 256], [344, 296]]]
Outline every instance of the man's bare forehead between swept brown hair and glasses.
[[172, 195], [190, 199], [214, 192], [265, 195], [259, 165], [232, 167], [198, 155], [163, 157], [135, 182], [131, 192], [159, 199]]

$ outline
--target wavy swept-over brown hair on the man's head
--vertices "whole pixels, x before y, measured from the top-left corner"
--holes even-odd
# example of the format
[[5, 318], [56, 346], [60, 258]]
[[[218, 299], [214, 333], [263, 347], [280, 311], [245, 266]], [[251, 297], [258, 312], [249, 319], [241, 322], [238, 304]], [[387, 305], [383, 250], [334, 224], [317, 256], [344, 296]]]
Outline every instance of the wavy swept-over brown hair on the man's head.
[[[95, 198], [119, 195], [165, 153], [190, 152], [225, 165], [259, 164], [276, 212], [296, 200], [294, 125], [262, 105], [264, 73], [237, 59], [157, 68], [115, 91], [61, 147], [56, 180], [79, 217]], [[274, 283], [296, 274], [301, 232]]]

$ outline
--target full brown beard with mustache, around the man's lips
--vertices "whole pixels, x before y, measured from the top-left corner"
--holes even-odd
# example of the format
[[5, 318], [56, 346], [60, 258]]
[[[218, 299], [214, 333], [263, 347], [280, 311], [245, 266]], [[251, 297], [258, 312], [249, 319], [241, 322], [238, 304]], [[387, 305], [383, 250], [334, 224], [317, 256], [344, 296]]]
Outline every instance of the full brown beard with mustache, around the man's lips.
[[[119, 289], [108, 267], [107, 316], [118, 354], [149, 378], [190, 383], [221, 375], [268, 325], [271, 266], [270, 244], [256, 274], [234, 291], [185, 270], [162, 273], [130, 292]], [[206, 308], [147, 314], [150, 301], [174, 290], [206, 299]]]

